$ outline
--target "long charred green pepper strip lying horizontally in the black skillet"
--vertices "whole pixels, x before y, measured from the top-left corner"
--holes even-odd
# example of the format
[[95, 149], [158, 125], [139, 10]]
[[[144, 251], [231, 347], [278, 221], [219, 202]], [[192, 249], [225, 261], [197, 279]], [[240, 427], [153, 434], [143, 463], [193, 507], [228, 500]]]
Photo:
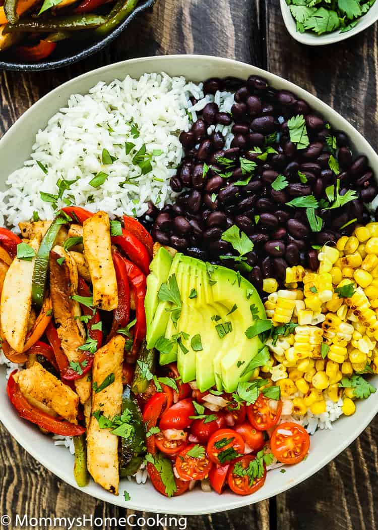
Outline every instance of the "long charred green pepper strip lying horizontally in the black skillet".
[[106, 18], [100, 15], [70, 15], [55, 19], [21, 19], [17, 24], [7, 24], [4, 33], [17, 31], [26, 33], [45, 33], [51, 31], [90, 30], [102, 26]]

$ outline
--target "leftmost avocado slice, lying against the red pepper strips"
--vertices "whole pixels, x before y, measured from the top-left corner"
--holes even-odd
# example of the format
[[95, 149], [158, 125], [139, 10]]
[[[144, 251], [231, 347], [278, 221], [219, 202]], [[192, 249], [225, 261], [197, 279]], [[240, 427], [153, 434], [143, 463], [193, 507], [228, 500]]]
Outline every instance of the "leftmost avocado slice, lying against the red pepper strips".
[[172, 265], [172, 256], [161, 246], [155, 258], [150, 263], [150, 273], [147, 276], [147, 293], [145, 298], [147, 341], [152, 332], [152, 321], [159, 303], [158, 292], [161, 284], [168, 279], [169, 269]]

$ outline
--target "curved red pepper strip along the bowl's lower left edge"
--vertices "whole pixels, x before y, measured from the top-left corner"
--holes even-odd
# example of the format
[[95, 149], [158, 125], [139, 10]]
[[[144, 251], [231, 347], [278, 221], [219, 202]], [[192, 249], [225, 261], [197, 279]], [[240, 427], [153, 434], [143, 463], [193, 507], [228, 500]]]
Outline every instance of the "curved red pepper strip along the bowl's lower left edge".
[[19, 385], [14, 381], [13, 375], [17, 372], [14, 370], [9, 376], [6, 391], [12, 405], [20, 414], [21, 418], [29, 420], [41, 429], [45, 429], [54, 434], [61, 436], [80, 436], [84, 434], [85, 428], [81, 425], [74, 425], [66, 420], [58, 420], [42, 412], [37, 407], [33, 407], [21, 393]]

